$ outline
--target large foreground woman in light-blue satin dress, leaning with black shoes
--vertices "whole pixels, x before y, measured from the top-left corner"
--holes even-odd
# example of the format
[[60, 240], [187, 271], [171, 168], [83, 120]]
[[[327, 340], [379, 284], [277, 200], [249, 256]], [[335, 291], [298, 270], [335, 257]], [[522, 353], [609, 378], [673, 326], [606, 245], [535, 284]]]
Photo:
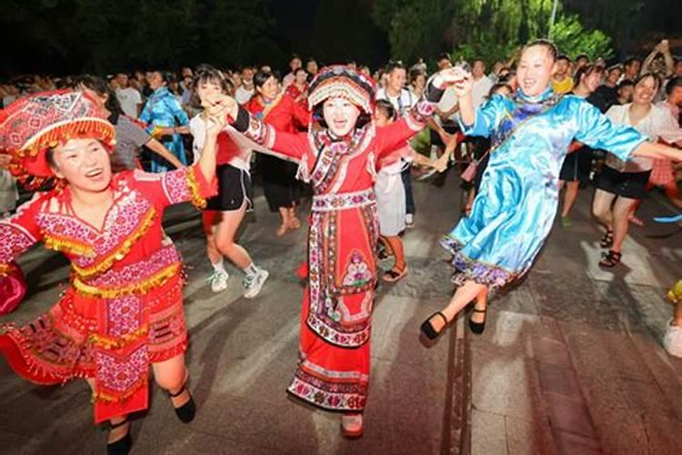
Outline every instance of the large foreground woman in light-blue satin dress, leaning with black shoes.
[[517, 94], [495, 96], [477, 111], [471, 77], [462, 70], [462, 83], [455, 86], [462, 131], [466, 136], [489, 136], [496, 147], [471, 215], [441, 242], [454, 255], [459, 288], [443, 311], [422, 324], [429, 339], [436, 339], [474, 299], [469, 325], [482, 332], [488, 290], [505, 286], [531, 267], [557, 215], [559, 170], [574, 138], [624, 160], [682, 160], [682, 152], [647, 143], [630, 126], [612, 125], [583, 98], [556, 96], [550, 84], [556, 58], [557, 48], [549, 41], [527, 45], [517, 68]]

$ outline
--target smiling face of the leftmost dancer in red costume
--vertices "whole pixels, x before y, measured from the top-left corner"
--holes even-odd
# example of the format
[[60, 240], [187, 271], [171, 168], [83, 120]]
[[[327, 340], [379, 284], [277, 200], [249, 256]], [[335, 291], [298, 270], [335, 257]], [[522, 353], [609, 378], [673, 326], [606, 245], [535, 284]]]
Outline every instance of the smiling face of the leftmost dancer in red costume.
[[111, 181], [109, 154], [92, 138], [70, 139], [55, 147], [53, 171], [71, 187], [88, 193], [104, 191]]

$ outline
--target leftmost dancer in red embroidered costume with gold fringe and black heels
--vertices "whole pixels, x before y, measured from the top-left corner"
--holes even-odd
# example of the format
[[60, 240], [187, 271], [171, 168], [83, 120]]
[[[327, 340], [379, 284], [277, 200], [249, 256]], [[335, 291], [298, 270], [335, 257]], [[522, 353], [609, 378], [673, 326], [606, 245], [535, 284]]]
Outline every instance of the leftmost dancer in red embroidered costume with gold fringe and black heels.
[[13, 156], [13, 173], [27, 185], [59, 182], [0, 221], [0, 284], [15, 279], [13, 259], [38, 241], [72, 263], [71, 284], [55, 307], [23, 327], [4, 325], [0, 350], [37, 384], [87, 379], [95, 422], [111, 423], [109, 453], [130, 450], [127, 416], [147, 407], [150, 365], [178, 418], [194, 418], [182, 264], [163, 241], [161, 218], [171, 204], [201, 206], [213, 193], [207, 182], [221, 123], [209, 128], [193, 167], [112, 175], [115, 129], [85, 93], [37, 94], [0, 112], [0, 149]]

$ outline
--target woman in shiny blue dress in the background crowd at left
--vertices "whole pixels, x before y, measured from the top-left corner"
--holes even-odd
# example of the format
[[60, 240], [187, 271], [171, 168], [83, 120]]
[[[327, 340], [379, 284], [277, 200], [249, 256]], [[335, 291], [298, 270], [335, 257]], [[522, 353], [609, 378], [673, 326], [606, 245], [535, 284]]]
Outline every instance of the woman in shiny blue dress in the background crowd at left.
[[[147, 76], [149, 86], [154, 90], [149, 96], [142, 110], [140, 120], [149, 125], [148, 132], [159, 128], [163, 132], [160, 142], [179, 159], [183, 165], [187, 164], [185, 146], [182, 136], [179, 133], [189, 133], [189, 118], [185, 111], [178, 104], [174, 96], [167, 87], [168, 76], [165, 73], [154, 71]], [[179, 127], [178, 127], [179, 126]], [[156, 154], [152, 155], [152, 172], [165, 172], [173, 169], [174, 166], [163, 157]]]

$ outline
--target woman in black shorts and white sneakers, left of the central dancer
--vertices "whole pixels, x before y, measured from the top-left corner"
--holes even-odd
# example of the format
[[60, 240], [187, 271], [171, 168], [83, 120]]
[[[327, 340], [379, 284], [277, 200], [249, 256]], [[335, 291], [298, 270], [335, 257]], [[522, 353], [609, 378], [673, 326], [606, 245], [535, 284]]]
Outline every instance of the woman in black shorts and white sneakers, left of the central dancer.
[[[231, 94], [231, 91], [231, 84], [216, 68], [202, 66], [196, 71], [194, 93], [199, 101], [211, 94]], [[199, 114], [189, 123], [194, 136], [195, 159], [198, 159], [198, 154], [204, 147], [206, 121], [206, 116]], [[246, 249], [235, 243], [236, 231], [246, 211], [253, 208], [249, 174], [251, 149], [238, 147], [226, 131], [218, 135], [217, 147], [218, 194], [206, 201], [204, 212], [206, 253], [213, 266], [213, 273], [209, 277], [211, 289], [220, 292], [227, 288], [229, 276], [223, 262], [223, 257], [227, 257], [246, 275], [243, 282], [244, 297], [255, 298], [268, 273], [265, 269], [256, 267]]]

